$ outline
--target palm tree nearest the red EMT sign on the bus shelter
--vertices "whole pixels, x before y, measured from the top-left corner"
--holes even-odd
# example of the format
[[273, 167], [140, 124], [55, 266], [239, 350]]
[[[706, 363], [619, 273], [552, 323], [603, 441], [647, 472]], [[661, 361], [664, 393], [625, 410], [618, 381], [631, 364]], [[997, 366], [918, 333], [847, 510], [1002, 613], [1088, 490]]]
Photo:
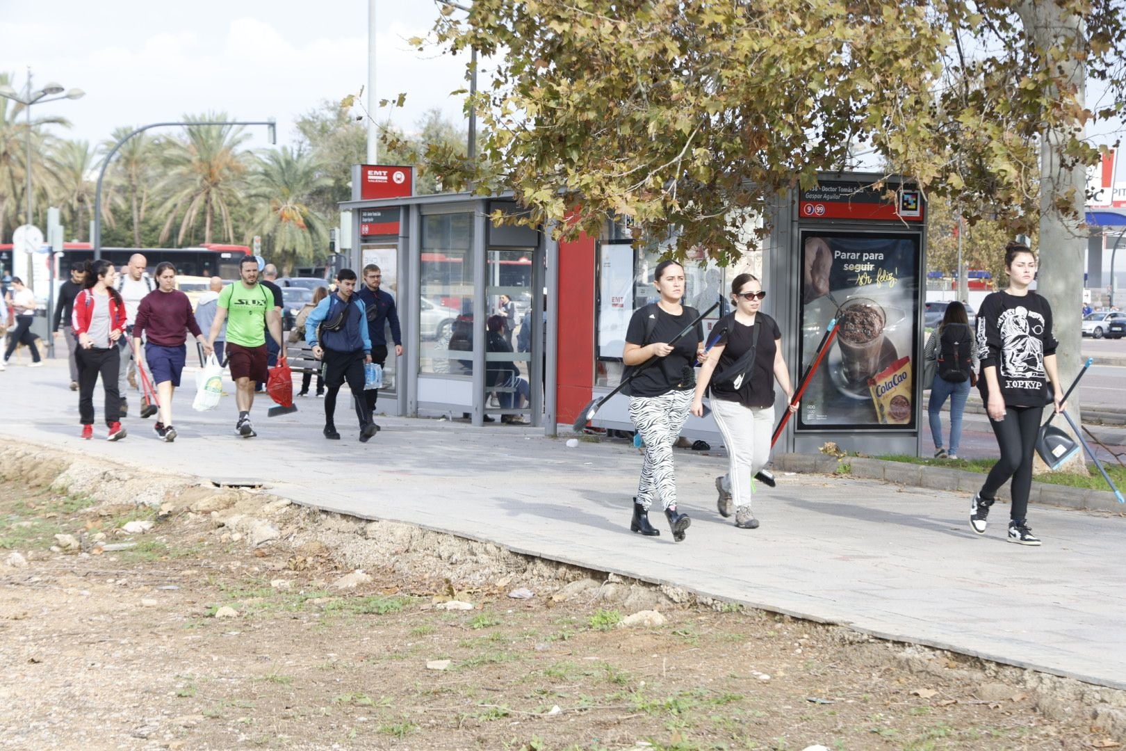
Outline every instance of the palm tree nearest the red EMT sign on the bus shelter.
[[270, 239], [274, 261], [288, 274], [298, 262], [312, 261], [328, 249], [328, 222], [310, 206], [318, 190], [331, 185], [305, 151], [282, 146], [268, 152], [252, 179], [250, 234]]

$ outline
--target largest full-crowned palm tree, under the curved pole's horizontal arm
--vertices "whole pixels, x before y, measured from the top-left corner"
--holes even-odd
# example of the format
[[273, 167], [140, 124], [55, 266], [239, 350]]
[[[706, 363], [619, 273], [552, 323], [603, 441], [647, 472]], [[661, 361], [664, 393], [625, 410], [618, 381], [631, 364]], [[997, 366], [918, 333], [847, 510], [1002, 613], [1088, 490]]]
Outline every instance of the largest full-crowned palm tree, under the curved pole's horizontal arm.
[[[187, 122], [225, 120], [224, 113], [185, 117]], [[180, 218], [177, 243], [182, 244], [197, 224], [204, 220], [204, 242], [212, 242], [216, 215], [223, 236], [234, 240], [231, 212], [241, 200], [241, 190], [248, 169], [248, 152], [239, 146], [250, 136], [242, 126], [189, 125], [184, 137], [162, 140], [166, 177], [157, 189], [164, 196], [160, 213], [168, 216], [160, 232], [160, 242], [171, 235], [172, 225]]]

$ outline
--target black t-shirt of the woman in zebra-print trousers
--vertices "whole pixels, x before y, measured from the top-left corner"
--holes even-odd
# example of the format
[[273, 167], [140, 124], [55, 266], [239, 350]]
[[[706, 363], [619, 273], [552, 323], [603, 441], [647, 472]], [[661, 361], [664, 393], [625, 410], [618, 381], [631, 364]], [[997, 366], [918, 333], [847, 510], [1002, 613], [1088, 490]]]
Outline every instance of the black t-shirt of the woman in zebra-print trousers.
[[[645, 321], [650, 315], [656, 316], [653, 333], [645, 338]], [[670, 342], [685, 327], [696, 320], [699, 313], [695, 309], [683, 306], [680, 315], [670, 315], [658, 305], [645, 305], [634, 311], [626, 329], [626, 341], [631, 345], [645, 347], [654, 342]], [[652, 324], [650, 324], [652, 327]], [[629, 383], [629, 393], [634, 396], [660, 396], [670, 391], [687, 391], [696, 387], [695, 374], [691, 373], [696, 361], [696, 350], [704, 339], [704, 327], [696, 324], [672, 346], [672, 351], [665, 357], [642, 368], [637, 377]], [[687, 368], [687, 370], [686, 370]]]

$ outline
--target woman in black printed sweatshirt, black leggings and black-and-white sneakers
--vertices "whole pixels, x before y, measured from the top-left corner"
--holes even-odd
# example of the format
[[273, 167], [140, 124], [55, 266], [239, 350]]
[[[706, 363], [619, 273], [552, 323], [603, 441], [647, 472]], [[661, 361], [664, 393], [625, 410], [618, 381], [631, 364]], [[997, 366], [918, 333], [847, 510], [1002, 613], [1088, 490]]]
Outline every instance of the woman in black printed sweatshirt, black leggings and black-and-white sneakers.
[[1028, 288], [1036, 278], [1036, 256], [1027, 245], [1011, 242], [1004, 268], [1009, 287], [988, 295], [977, 312], [982, 358], [977, 388], [1001, 456], [969, 501], [969, 526], [978, 535], [985, 533], [997, 491], [1011, 477], [1008, 539], [1039, 545], [1028, 526], [1028, 492], [1044, 406], [1054, 403], [1057, 413], [1065, 406], [1056, 369], [1058, 342], [1052, 331], [1052, 306]]

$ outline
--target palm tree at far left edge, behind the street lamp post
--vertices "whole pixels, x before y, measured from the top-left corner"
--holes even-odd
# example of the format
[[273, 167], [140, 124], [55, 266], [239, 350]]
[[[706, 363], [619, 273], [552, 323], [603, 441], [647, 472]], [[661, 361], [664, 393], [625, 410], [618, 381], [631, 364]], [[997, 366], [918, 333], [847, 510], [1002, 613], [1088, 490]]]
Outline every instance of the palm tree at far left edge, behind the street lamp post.
[[[10, 73], [0, 73], [0, 84], [11, 84]], [[50, 158], [53, 138], [46, 125], [70, 127], [62, 117], [32, 119], [32, 184], [33, 190], [45, 194], [55, 184], [54, 164]], [[23, 206], [27, 204], [27, 117], [24, 106], [0, 98], [0, 238], [10, 236], [8, 227], [32, 222]], [[39, 206], [44, 206], [39, 202]]]

